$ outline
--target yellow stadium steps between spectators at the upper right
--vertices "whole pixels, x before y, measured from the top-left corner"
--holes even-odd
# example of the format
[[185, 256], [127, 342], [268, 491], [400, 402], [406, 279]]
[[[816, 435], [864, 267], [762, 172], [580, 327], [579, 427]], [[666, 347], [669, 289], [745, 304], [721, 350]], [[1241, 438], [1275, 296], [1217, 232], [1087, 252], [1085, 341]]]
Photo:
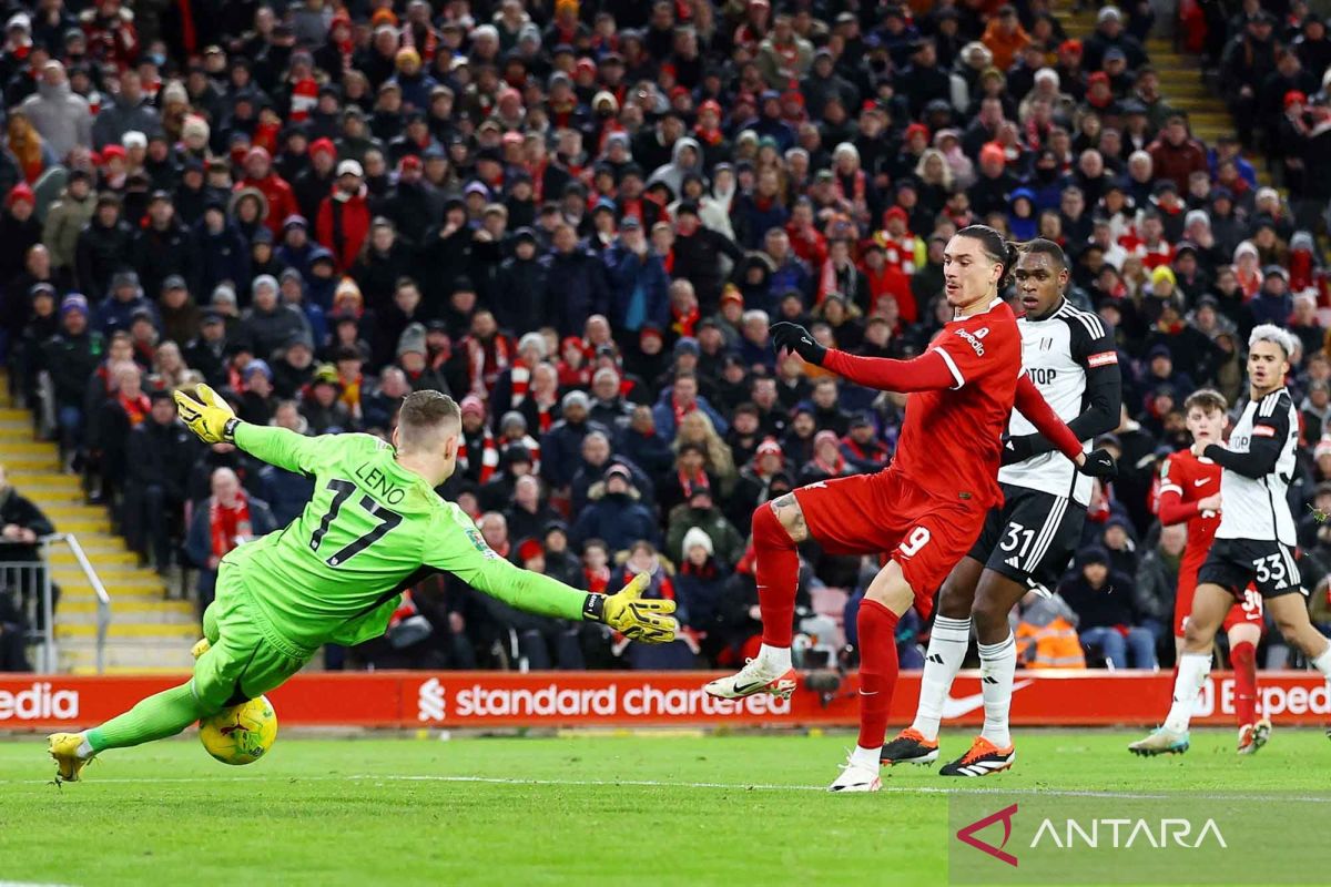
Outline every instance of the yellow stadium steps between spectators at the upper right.
[[[1095, 9], [1073, 11], [1071, 3], [1057, 4], [1054, 16], [1062, 23], [1069, 37], [1086, 40], [1095, 31]], [[1207, 145], [1225, 134], [1234, 133], [1234, 118], [1225, 100], [1205, 81], [1202, 63], [1197, 56], [1179, 52], [1170, 37], [1150, 37], [1146, 52], [1151, 65], [1161, 74], [1161, 93], [1178, 110], [1187, 114], [1193, 134]], [[1271, 185], [1264, 158], [1248, 157], [1256, 168], [1262, 185]]]

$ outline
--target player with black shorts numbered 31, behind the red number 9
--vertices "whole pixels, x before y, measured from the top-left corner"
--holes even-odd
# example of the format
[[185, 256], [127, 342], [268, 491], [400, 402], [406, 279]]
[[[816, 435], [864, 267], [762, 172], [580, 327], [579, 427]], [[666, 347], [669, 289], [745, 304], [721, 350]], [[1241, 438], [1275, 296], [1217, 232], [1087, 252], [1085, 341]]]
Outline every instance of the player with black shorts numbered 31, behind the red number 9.
[[[1022, 366], [1040, 394], [1081, 440], [1111, 431], [1123, 395], [1114, 332], [1063, 298], [1063, 250], [1040, 238], [1022, 245], [1013, 277], [1025, 310], [1017, 319]], [[1008, 616], [1026, 592], [1051, 588], [1067, 569], [1091, 495], [1091, 479], [1053, 448], [1025, 416], [1012, 415], [998, 472], [1002, 505], [989, 512], [970, 553], [942, 584], [916, 718], [882, 746], [885, 763], [932, 763], [938, 758], [942, 705], [966, 656], [972, 622], [980, 644], [985, 726], [970, 749], [940, 774], [984, 777], [1006, 770], [1016, 759], [1008, 711], [1017, 642]], [[1090, 447], [1083, 444], [1083, 449]]]

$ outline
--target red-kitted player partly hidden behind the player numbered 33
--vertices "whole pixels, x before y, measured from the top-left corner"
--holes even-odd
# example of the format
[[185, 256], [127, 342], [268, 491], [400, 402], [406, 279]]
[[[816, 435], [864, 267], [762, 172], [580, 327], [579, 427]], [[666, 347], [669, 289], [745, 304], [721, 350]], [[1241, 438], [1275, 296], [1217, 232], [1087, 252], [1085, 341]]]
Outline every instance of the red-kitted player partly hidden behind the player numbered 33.
[[[1223, 443], [1225, 410], [1229, 404], [1219, 391], [1202, 388], [1183, 402], [1187, 430], [1201, 444]], [[1161, 467], [1161, 525], [1187, 523], [1187, 548], [1178, 569], [1178, 596], [1174, 600], [1174, 645], [1183, 652], [1183, 629], [1193, 612], [1197, 570], [1206, 563], [1215, 531], [1221, 525], [1222, 468], [1193, 449], [1170, 455]], [[1256, 645], [1262, 641], [1262, 596], [1256, 589], [1243, 592], [1225, 617], [1230, 638], [1230, 664], [1234, 666], [1234, 705], [1239, 722], [1239, 754], [1252, 754], [1271, 737], [1271, 722], [1256, 713]]]

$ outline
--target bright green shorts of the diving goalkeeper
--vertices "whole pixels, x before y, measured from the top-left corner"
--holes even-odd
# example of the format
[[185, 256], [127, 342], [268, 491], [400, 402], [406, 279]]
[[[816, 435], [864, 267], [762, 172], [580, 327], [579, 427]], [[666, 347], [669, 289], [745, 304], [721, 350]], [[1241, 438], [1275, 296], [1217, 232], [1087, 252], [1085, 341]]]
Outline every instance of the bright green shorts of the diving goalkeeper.
[[238, 569], [222, 564], [204, 613], [209, 649], [194, 662], [194, 696], [209, 710], [240, 705], [286, 682], [315, 650], [282, 637], [250, 598]]

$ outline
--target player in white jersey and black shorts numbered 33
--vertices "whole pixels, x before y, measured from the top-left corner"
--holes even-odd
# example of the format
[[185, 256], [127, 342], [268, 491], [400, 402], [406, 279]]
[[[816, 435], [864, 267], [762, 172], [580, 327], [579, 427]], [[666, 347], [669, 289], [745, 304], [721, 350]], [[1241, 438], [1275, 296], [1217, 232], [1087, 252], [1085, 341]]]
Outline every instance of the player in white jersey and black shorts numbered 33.
[[1299, 415], [1284, 388], [1294, 347], [1294, 336], [1286, 330], [1272, 323], [1255, 327], [1248, 336], [1248, 403], [1234, 423], [1229, 444], [1193, 444], [1194, 455], [1223, 469], [1221, 525], [1197, 574], [1174, 678], [1174, 703], [1163, 726], [1127, 746], [1135, 754], [1187, 751], [1193, 706], [1211, 670], [1211, 642], [1250, 582], [1284, 640], [1331, 678], [1331, 641], [1308, 620], [1308, 592], [1294, 563], [1294, 516], [1287, 493], [1295, 471]]

